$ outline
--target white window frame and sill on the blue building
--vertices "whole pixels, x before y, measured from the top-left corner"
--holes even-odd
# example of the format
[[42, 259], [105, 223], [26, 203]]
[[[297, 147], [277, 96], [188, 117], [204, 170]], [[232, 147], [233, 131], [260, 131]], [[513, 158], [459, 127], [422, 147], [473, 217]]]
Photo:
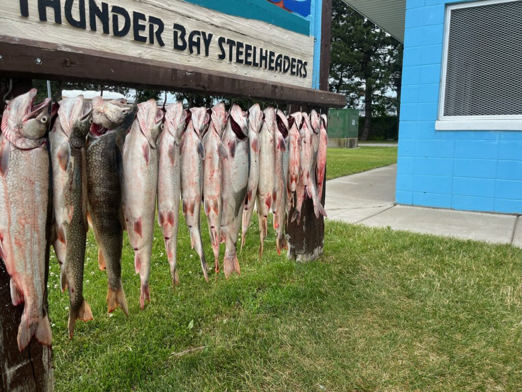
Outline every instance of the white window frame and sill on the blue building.
[[[479, 7], [490, 4], [511, 3], [517, 0], [485, 0], [446, 6], [444, 24], [444, 42], [442, 55], [442, 75], [438, 106], [437, 131], [522, 131], [522, 115], [513, 116], [444, 116], [446, 96], [446, 72], [448, 64], [449, 27], [452, 10], [458, 8]], [[522, 97], [520, 98], [522, 99]]]

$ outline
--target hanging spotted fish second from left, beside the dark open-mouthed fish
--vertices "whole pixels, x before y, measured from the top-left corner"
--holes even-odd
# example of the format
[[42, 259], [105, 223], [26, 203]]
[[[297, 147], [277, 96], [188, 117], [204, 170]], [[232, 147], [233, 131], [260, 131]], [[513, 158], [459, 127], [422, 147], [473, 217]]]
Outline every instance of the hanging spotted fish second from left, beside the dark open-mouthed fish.
[[59, 103], [58, 118], [49, 133], [53, 169], [53, 242], [60, 263], [62, 291], [69, 293], [69, 339], [76, 320], [92, 320], [83, 295], [87, 238], [87, 174], [85, 137], [90, 127], [91, 104], [84, 96]]

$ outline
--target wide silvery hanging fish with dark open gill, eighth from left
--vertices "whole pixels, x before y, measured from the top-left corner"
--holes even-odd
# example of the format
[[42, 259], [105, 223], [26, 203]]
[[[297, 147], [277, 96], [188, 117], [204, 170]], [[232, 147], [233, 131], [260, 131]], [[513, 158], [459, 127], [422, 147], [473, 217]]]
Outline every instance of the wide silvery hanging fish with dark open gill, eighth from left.
[[248, 167], [250, 166], [250, 147], [246, 113], [239, 105], [233, 105], [223, 133], [222, 142], [228, 159], [222, 162], [221, 178], [221, 238], [225, 243], [223, 270], [225, 278], [232, 272], [241, 273], [236, 244], [241, 225], [241, 213], [248, 187]]

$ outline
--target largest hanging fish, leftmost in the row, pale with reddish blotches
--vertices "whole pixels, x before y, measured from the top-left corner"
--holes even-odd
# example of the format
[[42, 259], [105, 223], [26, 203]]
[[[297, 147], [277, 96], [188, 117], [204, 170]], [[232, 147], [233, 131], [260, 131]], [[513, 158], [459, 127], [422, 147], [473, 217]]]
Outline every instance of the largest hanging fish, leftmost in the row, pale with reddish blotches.
[[46, 229], [50, 162], [45, 133], [50, 99], [33, 105], [36, 89], [7, 103], [0, 135], [0, 256], [4, 259], [13, 305], [23, 305], [18, 349], [34, 336], [51, 345], [51, 326], [44, 309]]

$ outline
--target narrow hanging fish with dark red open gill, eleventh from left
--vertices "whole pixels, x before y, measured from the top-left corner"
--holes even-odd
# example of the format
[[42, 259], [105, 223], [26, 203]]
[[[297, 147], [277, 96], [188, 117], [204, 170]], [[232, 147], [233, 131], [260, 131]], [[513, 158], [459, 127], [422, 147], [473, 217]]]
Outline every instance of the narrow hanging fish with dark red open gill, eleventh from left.
[[288, 250], [287, 238], [284, 235], [285, 216], [287, 210], [287, 175], [288, 175], [288, 120], [281, 110], [276, 112], [276, 133], [274, 137], [275, 177], [272, 199], [274, 213], [274, 229], [276, 230], [276, 246], [278, 255], [282, 249]]

